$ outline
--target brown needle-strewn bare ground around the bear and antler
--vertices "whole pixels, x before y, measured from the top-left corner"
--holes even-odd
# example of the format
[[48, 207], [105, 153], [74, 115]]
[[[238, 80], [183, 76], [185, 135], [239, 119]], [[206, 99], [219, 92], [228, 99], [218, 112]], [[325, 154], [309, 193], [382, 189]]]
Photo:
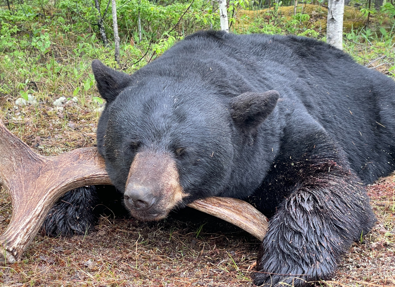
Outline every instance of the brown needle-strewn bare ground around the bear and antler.
[[[20, 107], [0, 98], [0, 119], [43, 155], [95, 143], [100, 105], [37, 95]], [[355, 243], [329, 286], [395, 286], [395, 175], [368, 186], [378, 222]], [[0, 190], [0, 231], [11, 217]], [[252, 286], [260, 242], [227, 222], [194, 209], [159, 222], [103, 215], [93, 233], [72, 238], [38, 235], [21, 262], [0, 263], [2, 286]]]

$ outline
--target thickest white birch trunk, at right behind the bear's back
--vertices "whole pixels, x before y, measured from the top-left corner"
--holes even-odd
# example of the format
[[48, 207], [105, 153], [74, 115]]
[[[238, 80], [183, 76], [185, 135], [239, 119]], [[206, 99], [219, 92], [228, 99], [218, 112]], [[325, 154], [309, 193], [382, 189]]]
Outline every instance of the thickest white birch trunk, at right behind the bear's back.
[[343, 49], [344, 0], [329, 0], [326, 25], [326, 43]]

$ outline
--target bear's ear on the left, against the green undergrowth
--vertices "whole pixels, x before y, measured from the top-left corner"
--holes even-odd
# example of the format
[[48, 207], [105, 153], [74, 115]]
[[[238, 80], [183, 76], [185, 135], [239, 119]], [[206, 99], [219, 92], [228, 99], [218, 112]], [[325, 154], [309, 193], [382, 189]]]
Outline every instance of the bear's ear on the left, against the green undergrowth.
[[99, 93], [107, 103], [114, 101], [132, 80], [130, 75], [115, 71], [103, 65], [99, 60], [92, 61], [92, 70]]

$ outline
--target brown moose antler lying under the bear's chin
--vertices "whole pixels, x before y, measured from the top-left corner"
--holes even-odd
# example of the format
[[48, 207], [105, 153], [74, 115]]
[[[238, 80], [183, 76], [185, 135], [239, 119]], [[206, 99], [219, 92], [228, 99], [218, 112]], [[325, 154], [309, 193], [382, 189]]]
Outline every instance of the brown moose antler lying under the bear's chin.
[[[19, 261], [52, 205], [68, 190], [90, 184], [111, 184], [96, 147], [75, 149], [55, 157], [37, 154], [11, 134], [0, 120], [0, 184], [12, 200], [12, 217], [0, 235], [3, 255]], [[211, 197], [188, 204], [222, 218], [262, 240], [267, 218], [245, 201]]]

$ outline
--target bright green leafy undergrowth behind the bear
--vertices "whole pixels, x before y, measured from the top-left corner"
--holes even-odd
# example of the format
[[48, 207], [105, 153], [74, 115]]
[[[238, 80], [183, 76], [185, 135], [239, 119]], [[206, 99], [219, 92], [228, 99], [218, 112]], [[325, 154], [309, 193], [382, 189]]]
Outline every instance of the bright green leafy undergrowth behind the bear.
[[[325, 31], [307, 25], [311, 19], [303, 8], [298, 6], [292, 17], [278, 13], [284, 3], [291, 2], [272, 1], [271, 9], [261, 13], [263, 1], [230, 0], [230, 30], [233, 33], [295, 34], [323, 39]], [[43, 93], [70, 99], [75, 97], [82, 105], [85, 98], [100, 103], [94, 97], [94, 77], [90, 72], [93, 59], [133, 73], [184, 35], [220, 27], [218, 7], [210, 0], [117, 0], [121, 39], [119, 65], [113, 60], [111, 3], [109, 0], [99, 3], [100, 11], [94, 0], [30, 0], [15, 2], [11, 10], [7, 6], [0, 7], [0, 96], [25, 99], [27, 93]], [[387, 2], [380, 11], [375, 11], [369, 10], [365, 4], [361, 4], [363, 13], [375, 13], [374, 17], [380, 23], [388, 23], [390, 19], [391, 26], [383, 24], [379, 28], [353, 30], [347, 37], [358, 43], [392, 47], [394, 6]], [[137, 27], [139, 13], [141, 41]], [[109, 40], [107, 46], [103, 45], [100, 34], [100, 19]], [[249, 21], [248, 26], [239, 25], [243, 20]]]

